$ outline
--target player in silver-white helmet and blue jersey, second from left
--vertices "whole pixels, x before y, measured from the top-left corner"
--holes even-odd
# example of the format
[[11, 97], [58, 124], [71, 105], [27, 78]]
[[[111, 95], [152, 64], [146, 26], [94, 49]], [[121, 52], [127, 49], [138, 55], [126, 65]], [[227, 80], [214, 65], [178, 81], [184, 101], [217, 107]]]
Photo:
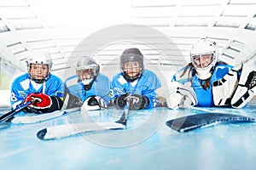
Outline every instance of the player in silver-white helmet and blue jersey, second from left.
[[[76, 75], [65, 81], [71, 94], [67, 108], [83, 105], [85, 111], [107, 108], [110, 100], [110, 81], [100, 73], [100, 65], [90, 57], [82, 57], [76, 66]], [[80, 102], [79, 102], [80, 100]]]

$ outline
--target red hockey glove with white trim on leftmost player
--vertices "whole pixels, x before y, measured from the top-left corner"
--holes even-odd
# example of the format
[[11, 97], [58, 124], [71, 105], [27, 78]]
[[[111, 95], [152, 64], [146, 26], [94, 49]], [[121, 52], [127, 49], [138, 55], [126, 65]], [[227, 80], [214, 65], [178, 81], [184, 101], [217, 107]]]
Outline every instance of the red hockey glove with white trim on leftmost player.
[[29, 107], [34, 109], [47, 109], [52, 105], [52, 100], [50, 99], [49, 95], [46, 94], [28, 94], [24, 103], [26, 104], [28, 101], [32, 101], [32, 104]]

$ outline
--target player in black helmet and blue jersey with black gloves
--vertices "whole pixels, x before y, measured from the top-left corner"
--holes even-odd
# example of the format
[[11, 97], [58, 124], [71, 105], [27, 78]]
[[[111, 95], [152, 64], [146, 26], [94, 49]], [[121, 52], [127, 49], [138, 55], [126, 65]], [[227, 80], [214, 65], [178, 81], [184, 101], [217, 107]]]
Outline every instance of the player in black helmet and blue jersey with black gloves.
[[125, 49], [120, 56], [120, 69], [111, 82], [113, 105], [124, 108], [128, 100], [131, 110], [159, 105], [155, 90], [160, 88], [160, 80], [154, 72], [144, 70], [143, 54], [138, 48]]

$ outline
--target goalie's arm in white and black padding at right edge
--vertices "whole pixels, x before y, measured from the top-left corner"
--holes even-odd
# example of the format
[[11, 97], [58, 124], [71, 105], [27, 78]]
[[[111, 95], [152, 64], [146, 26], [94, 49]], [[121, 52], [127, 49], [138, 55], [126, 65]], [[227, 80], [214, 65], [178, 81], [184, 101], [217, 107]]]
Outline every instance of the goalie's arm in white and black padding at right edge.
[[222, 79], [213, 82], [214, 105], [241, 108], [253, 99], [256, 71], [246, 64], [232, 68]]

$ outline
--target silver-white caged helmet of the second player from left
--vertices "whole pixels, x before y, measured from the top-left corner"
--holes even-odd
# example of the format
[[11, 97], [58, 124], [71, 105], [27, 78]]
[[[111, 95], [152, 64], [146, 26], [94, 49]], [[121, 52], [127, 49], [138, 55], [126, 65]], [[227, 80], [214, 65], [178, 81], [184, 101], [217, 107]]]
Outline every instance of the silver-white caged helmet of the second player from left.
[[[79, 77], [79, 82], [83, 82], [84, 85], [88, 85], [98, 76], [100, 72], [100, 65], [98, 65], [94, 59], [84, 56], [78, 60], [75, 70]], [[92, 71], [91, 77], [82, 80], [79, 75], [83, 73], [85, 74], [86, 71]]]

